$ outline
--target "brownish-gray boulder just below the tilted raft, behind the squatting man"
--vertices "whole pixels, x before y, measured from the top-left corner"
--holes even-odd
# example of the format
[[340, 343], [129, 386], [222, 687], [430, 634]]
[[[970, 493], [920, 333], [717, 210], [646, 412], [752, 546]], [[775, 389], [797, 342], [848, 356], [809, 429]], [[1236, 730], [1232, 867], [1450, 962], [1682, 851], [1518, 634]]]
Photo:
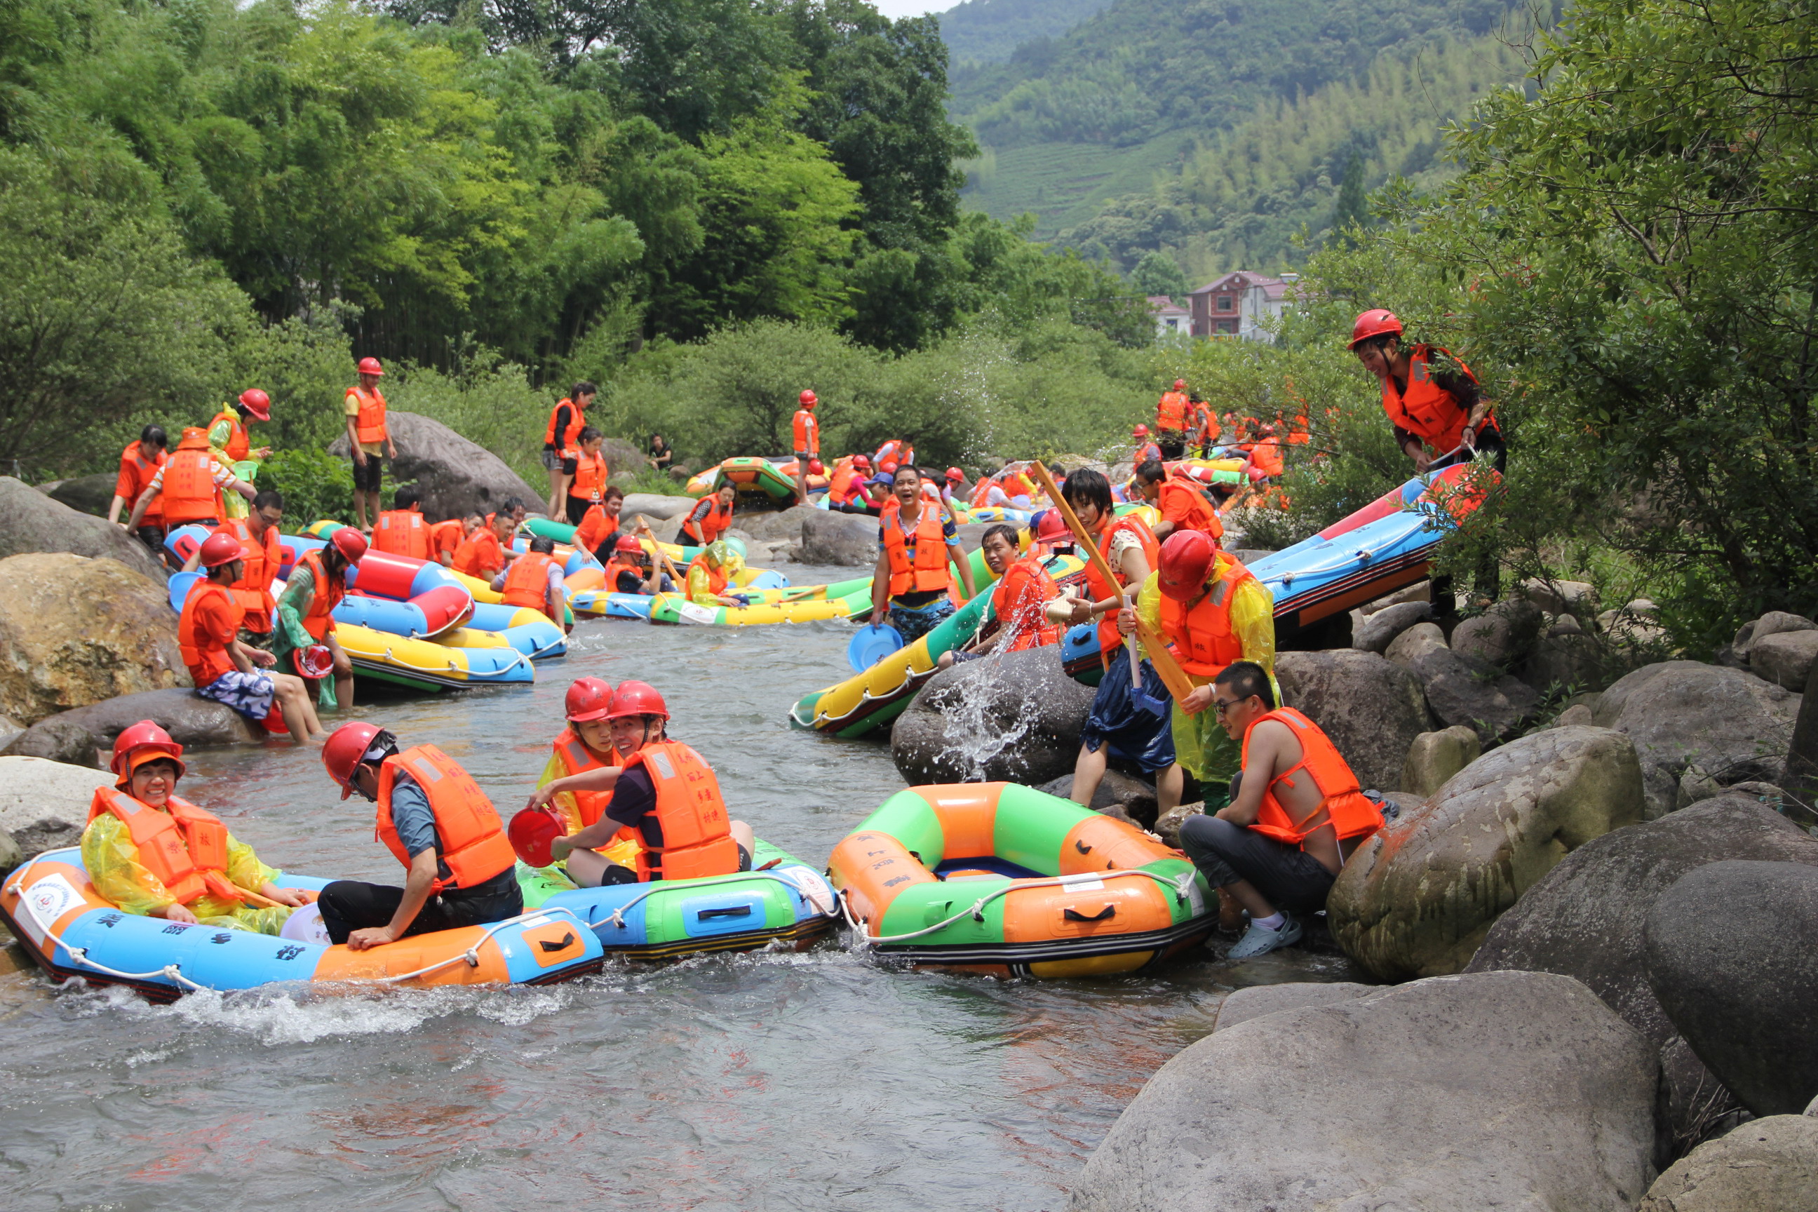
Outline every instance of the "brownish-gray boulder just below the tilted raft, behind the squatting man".
[[[1427, 623], [1431, 627], [1431, 623]], [[1374, 652], [1282, 652], [1282, 698], [1333, 738], [1364, 787], [1402, 789], [1414, 738], [1433, 727], [1420, 681]]]

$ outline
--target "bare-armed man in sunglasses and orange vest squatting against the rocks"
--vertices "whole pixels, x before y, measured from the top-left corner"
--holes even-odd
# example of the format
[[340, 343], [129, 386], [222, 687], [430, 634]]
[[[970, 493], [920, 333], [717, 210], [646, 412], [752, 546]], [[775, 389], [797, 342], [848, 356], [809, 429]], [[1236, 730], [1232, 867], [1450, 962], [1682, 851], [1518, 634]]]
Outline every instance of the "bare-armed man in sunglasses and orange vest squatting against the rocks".
[[1211, 705], [1244, 745], [1244, 776], [1229, 805], [1180, 827], [1180, 847], [1205, 883], [1249, 910], [1231, 959], [1298, 941], [1296, 914], [1325, 909], [1345, 859], [1383, 823], [1320, 725], [1276, 701], [1256, 661], [1218, 674]]

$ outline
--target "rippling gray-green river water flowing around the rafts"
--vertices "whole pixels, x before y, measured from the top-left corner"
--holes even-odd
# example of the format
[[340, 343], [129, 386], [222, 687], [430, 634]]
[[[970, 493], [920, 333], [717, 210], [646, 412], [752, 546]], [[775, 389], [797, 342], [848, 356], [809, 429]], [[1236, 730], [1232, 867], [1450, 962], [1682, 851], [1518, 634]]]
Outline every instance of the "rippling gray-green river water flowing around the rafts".
[[[849, 569], [789, 569], [798, 585]], [[356, 707], [522, 805], [594, 674], [654, 683], [734, 816], [798, 858], [902, 780], [885, 745], [791, 730], [851, 625], [584, 621], [525, 689]], [[400, 881], [373, 809], [289, 745], [191, 756], [184, 794], [275, 867]], [[1338, 958], [1100, 981], [891, 972], [809, 952], [609, 965], [554, 988], [196, 994], [0, 979], [0, 1207], [1060, 1208], [1080, 1163], [1238, 985]]]

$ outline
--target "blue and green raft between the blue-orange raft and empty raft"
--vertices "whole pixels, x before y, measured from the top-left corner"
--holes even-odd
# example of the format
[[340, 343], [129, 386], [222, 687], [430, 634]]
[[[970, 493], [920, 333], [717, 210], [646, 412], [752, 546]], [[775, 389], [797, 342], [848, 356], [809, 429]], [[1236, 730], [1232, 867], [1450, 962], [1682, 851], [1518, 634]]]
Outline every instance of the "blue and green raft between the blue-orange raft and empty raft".
[[751, 865], [733, 876], [576, 889], [556, 869], [518, 863], [518, 883], [527, 909], [573, 914], [607, 952], [631, 959], [804, 947], [838, 923], [838, 898], [818, 870], [762, 838]]

